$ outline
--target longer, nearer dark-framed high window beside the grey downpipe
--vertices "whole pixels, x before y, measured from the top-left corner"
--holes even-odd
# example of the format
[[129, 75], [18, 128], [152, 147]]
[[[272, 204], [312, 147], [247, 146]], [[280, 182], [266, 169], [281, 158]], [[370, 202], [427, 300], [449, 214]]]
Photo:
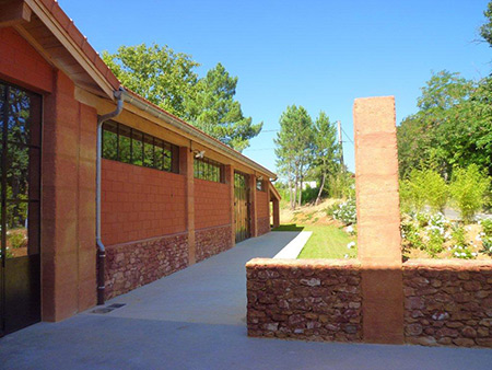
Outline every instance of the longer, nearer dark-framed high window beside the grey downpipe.
[[179, 173], [179, 148], [126, 125], [103, 124], [103, 158]]

